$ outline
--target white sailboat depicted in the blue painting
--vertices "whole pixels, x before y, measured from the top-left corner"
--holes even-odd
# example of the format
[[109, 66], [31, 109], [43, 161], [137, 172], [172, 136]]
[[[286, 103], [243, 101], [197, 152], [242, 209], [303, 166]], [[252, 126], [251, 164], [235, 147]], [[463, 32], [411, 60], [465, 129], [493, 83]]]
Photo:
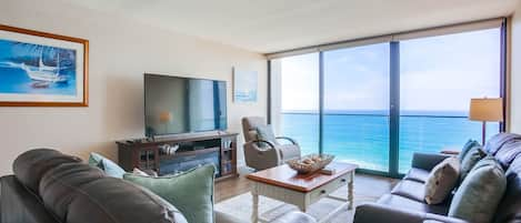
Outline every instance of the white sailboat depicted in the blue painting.
[[21, 64], [21, 68], [27, 72], [29, 78], [33, 81], [39, 82], [52, 82], [52, 83], [67, 83], [67, 75], [60, 75], [60, 53], [57, 53], [56, 67], [46, 65], [43, 63], [43, 50], [40, 53], [38, 68], [29, 67], [26, 63]]

